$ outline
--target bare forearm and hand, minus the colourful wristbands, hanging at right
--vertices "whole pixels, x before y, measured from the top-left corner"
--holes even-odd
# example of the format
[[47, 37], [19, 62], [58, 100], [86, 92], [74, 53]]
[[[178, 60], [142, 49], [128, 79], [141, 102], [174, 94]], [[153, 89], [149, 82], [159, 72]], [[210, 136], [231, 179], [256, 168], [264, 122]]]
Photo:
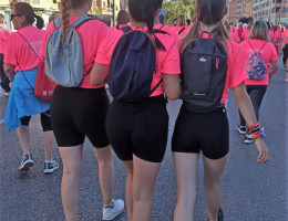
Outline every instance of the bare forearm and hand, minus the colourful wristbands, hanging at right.
[[[239, 110], [245, 118], [247, 125], [255, 125], [257, 123], [251, 101], [246, 92], [244, 83], [234, 88], [235, 101], [239, 107]], [[255, 139], [255, 145], [258, 150], [257, 162], [264, 164], [269, 159], [269, 150], [263, 139], [258, 137]]]

